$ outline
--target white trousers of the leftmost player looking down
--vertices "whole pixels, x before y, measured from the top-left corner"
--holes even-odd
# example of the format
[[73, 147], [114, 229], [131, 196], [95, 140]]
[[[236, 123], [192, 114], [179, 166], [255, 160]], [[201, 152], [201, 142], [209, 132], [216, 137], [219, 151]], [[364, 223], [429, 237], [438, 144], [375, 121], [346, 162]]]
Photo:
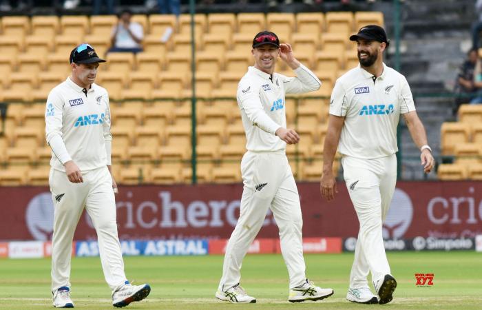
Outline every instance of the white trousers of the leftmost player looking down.
[[71, 183], [65, 172], [50, 169], [49, 184], [54, 201], [52, 291], [70, 287], [72, 239], [84, 206], [97, 232], [105, 280], [114, 291], [126, 278], [117, 236], [112, 177], [107, 166], [83, 172], [82, 176], [83, 183]]

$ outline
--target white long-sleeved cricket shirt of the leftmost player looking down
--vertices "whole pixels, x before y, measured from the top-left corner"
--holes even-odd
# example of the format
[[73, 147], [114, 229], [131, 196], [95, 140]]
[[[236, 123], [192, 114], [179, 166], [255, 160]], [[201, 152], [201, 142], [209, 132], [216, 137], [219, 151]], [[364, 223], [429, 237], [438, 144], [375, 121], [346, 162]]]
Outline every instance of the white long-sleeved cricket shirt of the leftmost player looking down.
[[[86, 94], [83, 90], [68, 77], [50, 91], [45, 110], [47, 143], [52, 137], [61, 136], [72, 161], [82, 172], [107, 165], [105, 141], [112, 141], [107, 90], [95, 83]], [[65, 172], [53, 151], [50, 165]]]

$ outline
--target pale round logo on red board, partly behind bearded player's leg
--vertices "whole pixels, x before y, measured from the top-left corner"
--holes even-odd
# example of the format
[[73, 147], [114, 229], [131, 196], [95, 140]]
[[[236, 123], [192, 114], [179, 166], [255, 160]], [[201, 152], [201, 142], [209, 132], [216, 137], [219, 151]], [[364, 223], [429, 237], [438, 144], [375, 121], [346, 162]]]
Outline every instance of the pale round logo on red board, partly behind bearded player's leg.
[[410, 196], [401, 189], [395, 189], [383, 226], [384, 239], [403, 237], [412, 223], [412, 216], [413, 205]]

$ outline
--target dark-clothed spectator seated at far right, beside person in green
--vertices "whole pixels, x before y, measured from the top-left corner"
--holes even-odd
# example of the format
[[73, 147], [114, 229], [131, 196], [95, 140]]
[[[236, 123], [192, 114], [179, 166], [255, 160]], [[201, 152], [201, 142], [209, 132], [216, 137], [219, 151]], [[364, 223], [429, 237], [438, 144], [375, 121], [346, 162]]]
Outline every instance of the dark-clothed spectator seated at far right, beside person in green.
[[[475, 87], [474, 70], [477, 63], [477, 50], [470, 50], [467, 53], [467, 59], [462, 63], [459, 68], [459, 74], [457, 75], [457, 83], [455, 85], [455, 92], [459, 96], [455, 102], [454, 112], [459, 110], [459, 106], [462, 103], [468, 103], [474, 99], [477, 88]], [[467, 97], [467, 94], [472, 94]]]

